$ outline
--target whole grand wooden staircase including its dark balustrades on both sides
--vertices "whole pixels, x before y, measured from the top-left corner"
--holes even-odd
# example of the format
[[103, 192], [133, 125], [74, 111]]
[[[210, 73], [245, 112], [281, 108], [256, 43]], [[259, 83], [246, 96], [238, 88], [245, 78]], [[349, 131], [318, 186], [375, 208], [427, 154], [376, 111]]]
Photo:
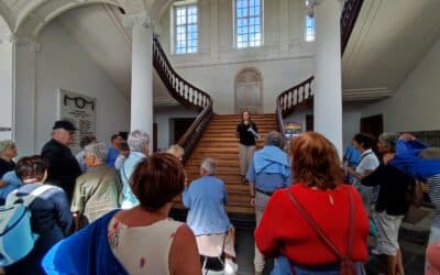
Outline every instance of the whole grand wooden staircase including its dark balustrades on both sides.
[[[345, 0], [341, 16], [341, 46], [342, 53], [349, 41], [351, 31], [356, 21], [363, 0]], [[235, 223], [249, 220], [254, 213], [250, 206], [249, 185], [240, 183], [239, 151], [235, 128], [240, 116], [219, 116], [212, 110], [210, 95], [185, 80], [168, 61], [157, 37], [153, 41], [153, 65], [169, 94], [183, 106], [199, 112], [195, 122], [178, 141], [184, 147], [183, 162], [188, 180], [199, 177], [199, 166], [204, 157], [217, 161], [217, 176], [224, 180], [229, 195], [227, 210], [238, 215]], [[314, 100], [314, 77], [283, 91], [275, 100], [274, 114], [254, 114], [252, 120], [257, 124], [262, 140], [257, 150], [263, 146], [264, 136], [270, 131], [285, 133], [284, 119], [304, 106], [310, 106]], [[182, 198], [175, 204], [182, 209]], [[246, 218], [243, 218], [246, 217]], [[252, 220], [254, 220], [252, 218]], [[249, 226], [249, 224], [248, 224]], [[252, 227], [252, 224], [251, 224]]]

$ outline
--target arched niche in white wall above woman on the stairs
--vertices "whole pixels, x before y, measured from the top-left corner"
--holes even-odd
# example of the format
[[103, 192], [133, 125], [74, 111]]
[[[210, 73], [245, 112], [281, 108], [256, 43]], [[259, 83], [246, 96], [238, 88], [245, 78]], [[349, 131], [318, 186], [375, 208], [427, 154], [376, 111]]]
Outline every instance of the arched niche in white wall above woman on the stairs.
[[235, 112], [263, 112], [262, 88], [262, 77], [257, 70], [246, 68], [240, 72], [235, 78]]

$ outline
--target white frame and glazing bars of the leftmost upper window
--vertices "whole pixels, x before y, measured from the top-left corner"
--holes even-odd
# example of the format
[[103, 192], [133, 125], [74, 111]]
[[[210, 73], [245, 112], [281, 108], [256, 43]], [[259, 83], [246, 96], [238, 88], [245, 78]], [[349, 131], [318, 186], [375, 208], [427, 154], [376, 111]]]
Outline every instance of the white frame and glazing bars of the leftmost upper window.
[[[177, 10], [179, 8], [185, 7], [185, 23], [184, 24], [177, 24]], [[188, 23], [188, 8], [195, 7], [196, 8], [196, 23]], [[187, 55], [187, 54], [197, 54], [199, 52], [199, 41], [200, 41], [200, 26], [199, 26], [199, 21], [200, 21], [200, 9], [198, 6], [197, 1], [182, 1], [182, 2], [177, 2], [173, 6], [172, 9], [172, 22], [170, 22], [170, 26], [172, 26], [172, 37], [170, 37], [170, 42], [172, 42], [172, 50], [173, 53], [175, 55]], [[194, 52], [188, 52], [189, 48], [194, 48], [194, 47], [189, 47], [188, 46], [188, 42], [193, 41], [193, 40], [188, 40], [188, 26], [190, 25], [196, 25], [196, 34], [197, 34], [197, 40], [196, 40], [196, 46], [195, 46], [195, 51]], [[178, 26], [185, 26], [185, 47], [183, 47], [185, 50], [185, 52], [177, 52], [178, 47], [177, 47], [177, 42], [178, 42], [178, 33], [177, 33], [177, 28]], [[180, 48], [180, 47], [179, 47]]]

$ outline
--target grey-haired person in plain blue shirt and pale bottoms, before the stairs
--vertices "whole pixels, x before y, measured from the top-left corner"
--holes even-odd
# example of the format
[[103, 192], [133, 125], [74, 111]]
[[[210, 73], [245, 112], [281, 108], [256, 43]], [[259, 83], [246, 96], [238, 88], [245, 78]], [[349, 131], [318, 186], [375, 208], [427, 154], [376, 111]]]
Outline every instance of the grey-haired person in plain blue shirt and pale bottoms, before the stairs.
[[237, 264], [231, 257], [235, 257], [235, 251], [229, 232], [231, 222], [224, 209], [228, 193], [223, 180], [215, 174], [215, 160], [204, 158], [200, 164], [201, 177], [193, 180], [183, 193], [184, 206], [189, 208], [186, 222], [196, 235], [200, 255], [212, 257], [224, 252], [224, 272], [234, 274]]

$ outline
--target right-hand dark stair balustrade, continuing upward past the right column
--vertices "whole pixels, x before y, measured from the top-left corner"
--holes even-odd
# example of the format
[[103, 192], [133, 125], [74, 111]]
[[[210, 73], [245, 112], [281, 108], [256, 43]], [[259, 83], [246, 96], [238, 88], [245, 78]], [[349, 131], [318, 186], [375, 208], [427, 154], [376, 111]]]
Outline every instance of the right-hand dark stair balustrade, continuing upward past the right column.
[[[344, 53], [350, 35], [364, 0], [345, 0], [341, 14], [341, 54]], [[286, 133], [284, 118], [292, 114], [299, 106], [311, 105], [314, 91], [311, 89], [314, 76], [302, 82], [283, 91], [276, 98], [276, 122], [278, 131]]]

